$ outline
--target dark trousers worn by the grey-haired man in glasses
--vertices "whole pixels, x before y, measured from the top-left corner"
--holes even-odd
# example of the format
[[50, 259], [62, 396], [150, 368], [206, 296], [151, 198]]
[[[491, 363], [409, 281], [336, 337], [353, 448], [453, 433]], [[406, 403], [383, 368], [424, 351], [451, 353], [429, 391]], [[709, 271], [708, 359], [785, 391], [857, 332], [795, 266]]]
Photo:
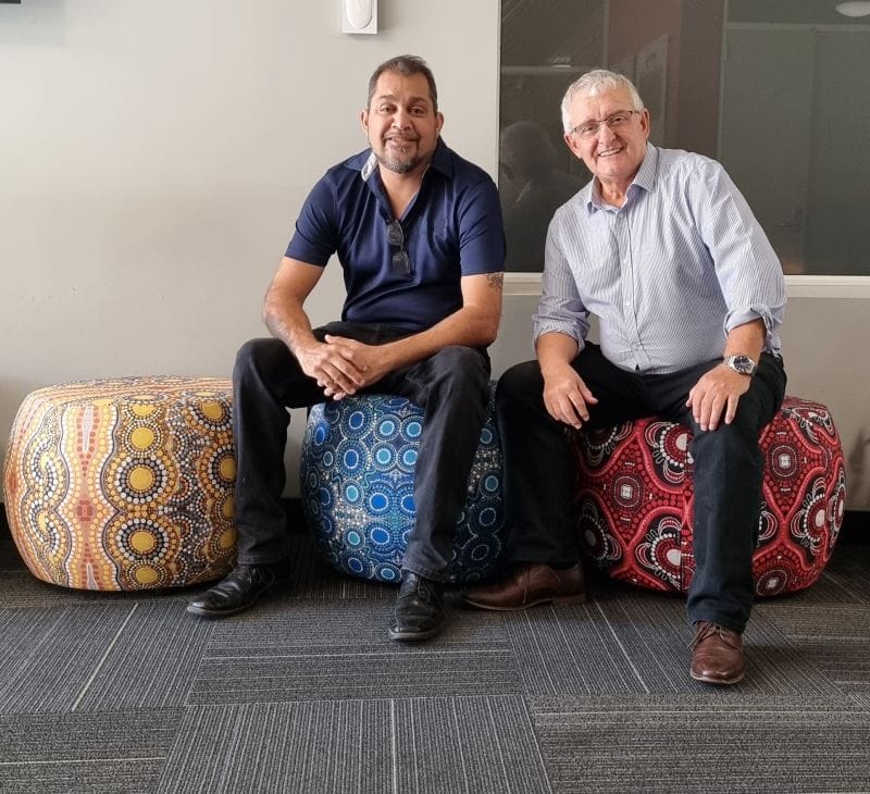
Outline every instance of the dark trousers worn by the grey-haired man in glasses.
[[[753, 604], [751, 558], [761, 511], [763, 459], [758, 437], [782, 404], [786, 379], [782, 359], [762, 353], [734, 421], [704, 432], [685, 401], [698, 379], [720, 362], [647, 375], [614, 367], [598, 346], [587, 344], [572, 365], [598, 398], [589, 406], [587, 427], [660, 415], [691, 429], [695, 574], [688, 617], [742, 632]], [[508, 370], [496, 392], [509, 554], [514, 562], [568, 565], [579, 557], [575, 466], [566, 425], [547, 413], [543, 393], [537, 361]]]

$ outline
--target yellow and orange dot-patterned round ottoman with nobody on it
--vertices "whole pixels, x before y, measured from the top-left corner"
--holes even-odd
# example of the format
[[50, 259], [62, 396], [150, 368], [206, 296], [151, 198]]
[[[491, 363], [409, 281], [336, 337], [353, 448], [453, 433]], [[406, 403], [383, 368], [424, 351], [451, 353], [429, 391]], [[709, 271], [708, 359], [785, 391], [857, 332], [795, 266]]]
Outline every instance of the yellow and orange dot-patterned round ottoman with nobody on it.
[[82, 590], [175, 587], [235, 558], [228, 381], [130, 377], [29, 394], [4, 466], [27, 568]]

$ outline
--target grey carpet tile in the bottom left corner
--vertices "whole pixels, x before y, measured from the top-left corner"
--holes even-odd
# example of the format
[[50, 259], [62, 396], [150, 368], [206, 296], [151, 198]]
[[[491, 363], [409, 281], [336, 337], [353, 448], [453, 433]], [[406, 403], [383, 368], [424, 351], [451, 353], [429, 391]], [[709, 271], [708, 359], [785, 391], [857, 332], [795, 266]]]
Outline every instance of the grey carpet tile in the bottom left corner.
[[153, 792], [183, 711], [0, 716], [0, 792]]

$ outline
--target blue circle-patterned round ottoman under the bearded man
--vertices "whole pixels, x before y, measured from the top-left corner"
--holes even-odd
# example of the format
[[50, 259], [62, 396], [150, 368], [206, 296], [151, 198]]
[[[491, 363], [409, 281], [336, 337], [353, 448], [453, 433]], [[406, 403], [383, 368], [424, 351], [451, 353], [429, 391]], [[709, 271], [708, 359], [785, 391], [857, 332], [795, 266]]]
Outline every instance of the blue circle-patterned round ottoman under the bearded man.
[[[414, 463], [423, 411], [403, 397], [360, 395], [314, 406], [302, 444], [306, 520], [333, 568], [398, 582], [414, 528]], [[501, 536], [501, 447], [489, 412], [457, 524], [452, 582], [477, 581], [497, 562]]]

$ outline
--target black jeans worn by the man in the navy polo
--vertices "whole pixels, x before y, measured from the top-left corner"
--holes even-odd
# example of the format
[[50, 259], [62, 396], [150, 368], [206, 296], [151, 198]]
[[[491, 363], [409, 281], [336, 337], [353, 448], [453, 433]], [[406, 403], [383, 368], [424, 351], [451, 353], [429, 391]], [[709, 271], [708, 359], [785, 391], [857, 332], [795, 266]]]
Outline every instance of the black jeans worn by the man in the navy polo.
[[[325, 334], [378, 345], [408, 332], [334, 322], [314, 331], [320, 339]], [[489, 357], [483, 349], [445, 347], [363, 390], [407, 397], [423, 409], [423, 434], [414, 468], [417, 523], [402, 567], [444, 581], [486, 419]], [[276, 562], [287, 555], [281, 505], [290, 421], [287, 409], [310, 407], [327, 398], [277, 339], [252, 339], [240, 348], [233, 371], [233, 396], [238, 561]]]

